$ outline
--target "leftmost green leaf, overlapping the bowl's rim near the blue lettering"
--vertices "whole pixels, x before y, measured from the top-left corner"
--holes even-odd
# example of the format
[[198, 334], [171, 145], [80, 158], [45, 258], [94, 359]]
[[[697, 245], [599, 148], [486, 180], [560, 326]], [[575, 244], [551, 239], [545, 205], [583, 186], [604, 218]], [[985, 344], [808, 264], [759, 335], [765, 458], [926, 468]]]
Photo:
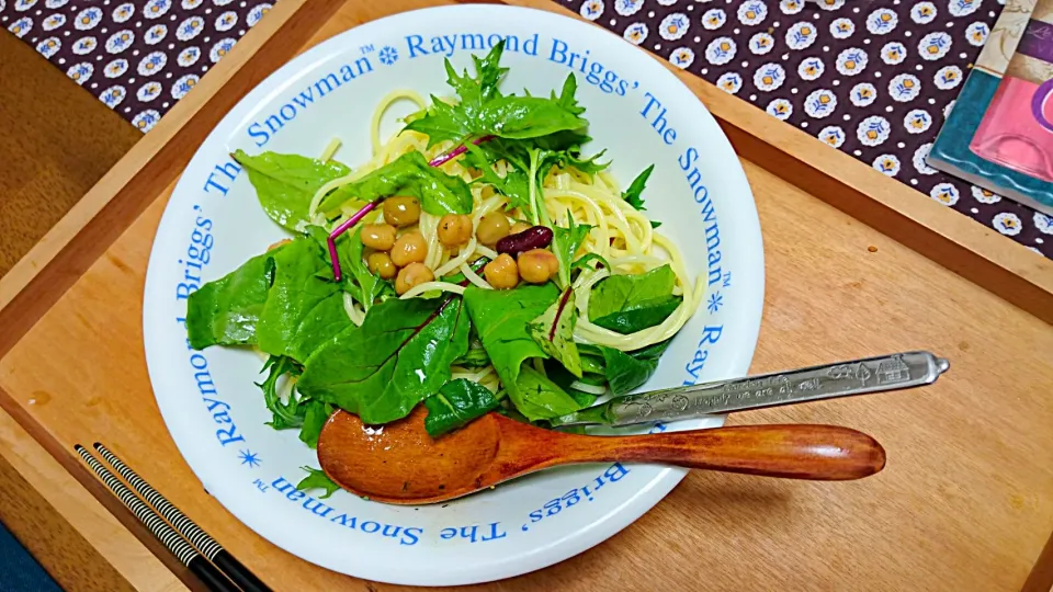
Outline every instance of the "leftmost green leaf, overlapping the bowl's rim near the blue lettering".
[[186, 337], [191, 348], [203, 350], [210, 345], [256, 343], [257, 323], [274, 280], [271, 254], [253, 257], [190, 295], [186, 299]]

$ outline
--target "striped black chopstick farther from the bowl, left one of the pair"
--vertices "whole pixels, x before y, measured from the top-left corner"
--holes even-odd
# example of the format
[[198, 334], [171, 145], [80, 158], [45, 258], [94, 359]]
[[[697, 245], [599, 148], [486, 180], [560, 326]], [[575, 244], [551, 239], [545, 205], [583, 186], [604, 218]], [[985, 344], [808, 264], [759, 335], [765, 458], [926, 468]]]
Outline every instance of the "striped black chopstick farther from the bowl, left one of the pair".
[[135, 514], [135, 517], [139, 519], [139, 522], [149, 528], [150, 533], [157, 537], [180, 562], [186, 566], [208, 590], [213, 592], [239, 592], [239, 589], [230, 583], [222, 571], [210, 563], [190, 543], [183, 540], [183, 538], [179, 536], [179, 533], [161, 520], [161, 516], [150, 510], [150, 508], [137, 498], [131, 489], [125, 487], [120, 479], [106, 470], [106, 467], [102, 466], [102, 463], [97, 460], [87, 448], [78, 444], [73, 446], [73, 449], [77, 451], [77, 454], [91, 467], [91, 470], [95, 471], [95, 475], [102, 479], [102, 482], [106, 483], [110, 491], [113, 491], [114, 496], [120, 498], [121, 501], [128, 506], [128, 510]]

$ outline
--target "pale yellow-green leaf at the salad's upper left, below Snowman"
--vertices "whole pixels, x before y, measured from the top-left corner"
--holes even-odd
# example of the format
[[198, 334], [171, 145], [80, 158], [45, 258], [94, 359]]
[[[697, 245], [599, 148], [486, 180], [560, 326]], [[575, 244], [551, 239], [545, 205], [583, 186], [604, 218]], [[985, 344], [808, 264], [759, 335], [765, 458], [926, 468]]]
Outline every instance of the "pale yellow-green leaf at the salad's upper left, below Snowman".
[[321, 161], [298, 155], [263, 152], [249, 156], [242, 150], [231, 155], [249, 174], [263, 212], [293, 231], [304, 231], [310, 198], [322, 185], [347, 177], [351, 169], [335, 160]]

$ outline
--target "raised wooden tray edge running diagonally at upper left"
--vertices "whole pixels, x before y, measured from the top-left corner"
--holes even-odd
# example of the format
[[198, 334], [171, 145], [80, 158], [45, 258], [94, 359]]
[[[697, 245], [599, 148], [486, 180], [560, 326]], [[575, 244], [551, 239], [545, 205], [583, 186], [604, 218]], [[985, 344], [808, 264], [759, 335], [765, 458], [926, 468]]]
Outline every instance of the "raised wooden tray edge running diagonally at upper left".
[[[339, 7], [339, 2], [326, 0], [285, 0], [270, 10], [267, 19], [210, 68], [194, 92], [180, 99], [135, 150], [110, 168], [66, 216], [53, 223], [25, 257], [0, 277], [0, 355], [182, 173], [194, 150], [227, 111], [276, 65], [298, 52]], [[47, 62], [43, 68], [48, 75], [65, 78]], [[47, 143], [37, 144], [37, 149], [50, 149]]]

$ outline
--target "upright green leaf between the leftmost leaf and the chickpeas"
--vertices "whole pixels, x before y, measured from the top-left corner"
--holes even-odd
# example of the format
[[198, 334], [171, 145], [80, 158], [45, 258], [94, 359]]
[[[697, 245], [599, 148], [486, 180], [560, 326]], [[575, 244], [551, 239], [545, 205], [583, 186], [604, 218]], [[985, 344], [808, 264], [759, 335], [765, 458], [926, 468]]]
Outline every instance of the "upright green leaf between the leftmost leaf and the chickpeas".
[[274, 282], [257, 325], [261, 350], [305, 362], [349, 327], [340, 285], [331, 282], [326, 250], [301, 238], [272, 251]]

